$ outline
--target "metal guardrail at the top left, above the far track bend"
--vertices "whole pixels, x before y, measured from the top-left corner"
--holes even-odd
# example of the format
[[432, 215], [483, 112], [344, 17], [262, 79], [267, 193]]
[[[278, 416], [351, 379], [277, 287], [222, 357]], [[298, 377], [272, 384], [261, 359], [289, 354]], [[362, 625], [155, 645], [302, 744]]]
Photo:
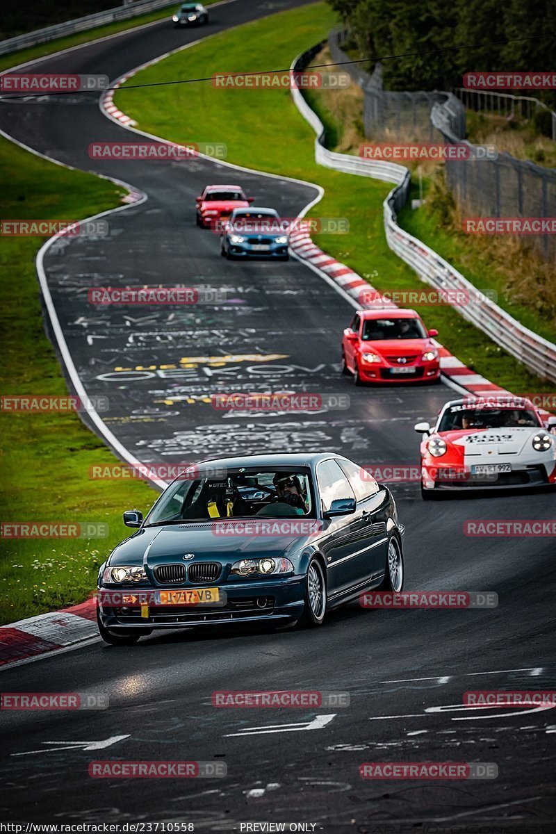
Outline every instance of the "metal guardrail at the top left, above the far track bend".
[[68, 20], [66, 23], [56, 23], [54, 26], [37, 29], [36, 32], [28, 32], [24, 35], [18, 35], [16, 38], [0, 41], [0, 55], [18, 52], [19, 49], [26, 47], [34, 47], [38, 43], [48, 43], [55, 38], [63, 38], [64, 35], [72, 35], [75, 32], [85, 32], [87, 29], [103, 26], [104, 23], [136, 18], [139, 14], [155, 12], [158, 8], [175, 6], [176, 4], [168, 3], [168, 0], [137, 0], [136, 3], [129, 3], [127, 6], [108, 8], [104, 12], [88, 14], [84, 18]]

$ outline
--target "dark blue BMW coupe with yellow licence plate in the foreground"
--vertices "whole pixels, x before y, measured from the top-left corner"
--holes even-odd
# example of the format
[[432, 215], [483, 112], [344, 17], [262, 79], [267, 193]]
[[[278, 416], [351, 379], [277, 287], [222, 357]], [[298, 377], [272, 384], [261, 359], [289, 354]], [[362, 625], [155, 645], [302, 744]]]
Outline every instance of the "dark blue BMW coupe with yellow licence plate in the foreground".
[[388, 489], [341, 455], [208, 460], [163, 492], [98, 574], [112, 645], [163, 628], [322, 625], [363, 590], [402, 590], [403, 525]]

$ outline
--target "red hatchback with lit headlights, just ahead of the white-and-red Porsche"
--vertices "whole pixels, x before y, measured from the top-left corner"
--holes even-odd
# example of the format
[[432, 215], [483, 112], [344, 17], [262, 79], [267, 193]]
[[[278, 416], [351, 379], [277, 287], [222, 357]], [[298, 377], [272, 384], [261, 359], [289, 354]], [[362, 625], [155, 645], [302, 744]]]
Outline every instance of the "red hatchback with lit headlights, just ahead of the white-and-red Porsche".
[[358, 310], [343, 331], [342, 373], [365, 382], [436, 382], [440, 377], [438, 330], [428, 330], [414, 310]]

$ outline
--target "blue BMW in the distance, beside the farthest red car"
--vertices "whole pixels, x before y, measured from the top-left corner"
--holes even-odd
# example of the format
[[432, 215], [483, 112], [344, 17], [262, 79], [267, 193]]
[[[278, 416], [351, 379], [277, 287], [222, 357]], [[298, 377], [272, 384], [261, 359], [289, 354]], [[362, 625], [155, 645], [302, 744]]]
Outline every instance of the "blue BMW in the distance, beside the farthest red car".
[[236, 208], [220, 237], [220, 254], [288, 260], [288, 223], [273, 208]]

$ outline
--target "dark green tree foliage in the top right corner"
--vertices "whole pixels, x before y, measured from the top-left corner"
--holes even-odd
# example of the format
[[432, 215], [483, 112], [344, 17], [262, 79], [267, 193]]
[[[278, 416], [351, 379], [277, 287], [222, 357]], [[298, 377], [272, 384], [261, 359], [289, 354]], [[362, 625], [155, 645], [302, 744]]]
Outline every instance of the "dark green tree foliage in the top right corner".
[[[464, 73], [482, 70], [555, 69], [554, 0], [328, 3], [349, 28], [353, 46], [362, 56], [383, 58], [383, 78], [389, 89], [460, 87]], [[514, 38], [528, 39], [487, 45]]]

